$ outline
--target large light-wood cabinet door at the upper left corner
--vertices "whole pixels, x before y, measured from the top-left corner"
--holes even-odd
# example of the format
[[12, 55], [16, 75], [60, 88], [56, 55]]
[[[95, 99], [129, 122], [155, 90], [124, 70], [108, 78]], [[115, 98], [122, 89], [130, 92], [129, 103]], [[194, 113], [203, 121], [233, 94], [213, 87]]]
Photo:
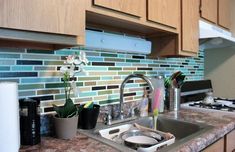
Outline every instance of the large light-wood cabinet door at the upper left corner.
[[83, 0], [1, 0], [0, 27], [83, 35]]

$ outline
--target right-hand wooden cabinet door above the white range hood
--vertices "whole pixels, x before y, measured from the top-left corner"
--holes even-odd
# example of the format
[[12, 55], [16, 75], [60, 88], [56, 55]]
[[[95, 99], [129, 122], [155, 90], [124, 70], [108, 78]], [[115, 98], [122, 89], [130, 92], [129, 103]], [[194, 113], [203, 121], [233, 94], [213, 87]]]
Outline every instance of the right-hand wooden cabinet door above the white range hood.
[[219, 16], [218, 25], [230, 29], [230, 0], [218, 0]]

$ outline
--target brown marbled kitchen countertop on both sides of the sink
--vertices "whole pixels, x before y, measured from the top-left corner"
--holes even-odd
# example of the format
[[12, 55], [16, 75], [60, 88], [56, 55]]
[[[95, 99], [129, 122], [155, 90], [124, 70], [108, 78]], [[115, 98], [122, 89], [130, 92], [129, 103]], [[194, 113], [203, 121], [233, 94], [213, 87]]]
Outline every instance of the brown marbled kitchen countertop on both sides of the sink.
[[[213, 129], [206, 133], [193, 138], [177, 147], [180, 152], [197, 152], [209, 146], [216, 140], [220, 139], [235, 128], [235, 113], [221, 112], [216, 110], [198, 109], [183, 106], [179, 112], [168, 112], [164, 117], [184, 120], [193, 123], [206, 123], [214, 126]], [[184, 128], [182, 128], [184, 129]], [[23, 147], [20, 152], [28, 151], [117, 151], [115, 148], [107, 146], [96, 141], [92, 136], [86, 136], [78, 133], [78, 136], [72, 140], [59, 140], [55, 138], [43, 137], [40, 145]]]

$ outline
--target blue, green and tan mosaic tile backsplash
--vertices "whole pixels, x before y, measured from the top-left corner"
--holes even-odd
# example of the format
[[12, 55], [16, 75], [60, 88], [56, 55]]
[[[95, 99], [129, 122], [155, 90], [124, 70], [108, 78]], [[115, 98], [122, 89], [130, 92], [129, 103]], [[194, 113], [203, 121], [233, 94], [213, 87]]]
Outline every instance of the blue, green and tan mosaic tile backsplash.
[[[204, 78], [204, 52], [196, 58], [150, 59], [146, 55], [104, 52], [85, 48], [56, 51], [0, 48], [0, 81], [19, 83], [19, 97], [41, 99], [41, 113], [53, 112], [52, 103], [64, 103], [62, 74], [59, 69], [66, 56], [80, 50], [87, 53], [85, 72], [76, 75], [79, 96], [75, 103], [94, 101], [101, 105], [114, 104], [119, 99], [119, 85], [129, 74], [139, 73], [150, 77], [169, 76], [181, 70], [187, 80]], [[125, 101], [139, 101], [146, 84], [140, 79], [128, 82]]]

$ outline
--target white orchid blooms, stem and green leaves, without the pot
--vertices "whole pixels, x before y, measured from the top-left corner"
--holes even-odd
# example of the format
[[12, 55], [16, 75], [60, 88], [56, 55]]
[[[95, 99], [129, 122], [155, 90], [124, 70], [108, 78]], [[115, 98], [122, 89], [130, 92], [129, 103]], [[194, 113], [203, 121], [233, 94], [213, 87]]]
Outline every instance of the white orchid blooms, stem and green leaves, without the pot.
[[[65, 90], [65, 104], [63, 106], [57, 106], [53, 104], [54, 110], [56, 111], [58, 118], [71, 118], [78, 115], [82, 106], [76, 106], [71, 97], [71, 91], [75, 96], [78, 96], [78, 88], [74, 81], [75, 74], [83, 71], [83, 65], [88, 64], [85, 52], [81, 51], [80, 55], [69, 55], [65, 61], [65, 64], [60, 68], [63, 73], [63, 84]], [[77, 70], [78, 68], [78, 70]]]

